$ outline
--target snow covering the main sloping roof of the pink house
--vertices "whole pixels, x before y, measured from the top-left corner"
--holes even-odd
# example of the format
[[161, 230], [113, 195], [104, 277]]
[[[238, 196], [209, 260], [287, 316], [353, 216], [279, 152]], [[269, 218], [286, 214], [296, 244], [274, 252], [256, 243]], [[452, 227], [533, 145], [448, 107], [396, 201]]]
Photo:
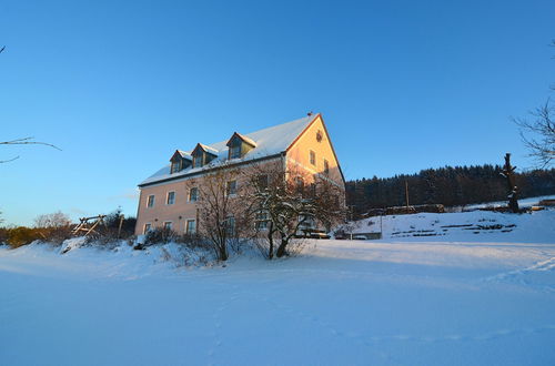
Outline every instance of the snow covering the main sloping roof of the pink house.
[[[233, 162], [248, 161], [253, 159], [261, 159], [265, 156], [272, 156], [284, 152], [293, 141], [301, 134], [301, 132], [306, 129], [306, 126], [317, 116], [317, 113], [312, 115], [304, 116], [299, 120], [294, 120], [291, 122], [286, 122], [283, 124], [274, 125], [271, 128], [266, 128], [263, 130], [259, 130], [255, 132], [241, 134], [241, 138], [246, 138], [254, 142], [254, 149], [249, 151], [241, 159], [233, 159]], [[228, 161], [228, 151], [226, 146], [229, 140], [220, 141], [210, 145], [200, 144], [205, 151], [213, 153], [218, 157], [212, 160], [210, 164], [206, 164], [201, 167], [186, 167], [179, 173], [170, 174], [170, 164], [163, 166], [158, 172], [142, 181], [139, 185], [155, 183], [158, 181], [164, 181], [170, 177], [180, 177], [185, 176], [191, 173], [196, 173], [203, 170], [208, 170], [218, 163], [223, 163]], [[189, 154], [189, 152], [184, 152]]]

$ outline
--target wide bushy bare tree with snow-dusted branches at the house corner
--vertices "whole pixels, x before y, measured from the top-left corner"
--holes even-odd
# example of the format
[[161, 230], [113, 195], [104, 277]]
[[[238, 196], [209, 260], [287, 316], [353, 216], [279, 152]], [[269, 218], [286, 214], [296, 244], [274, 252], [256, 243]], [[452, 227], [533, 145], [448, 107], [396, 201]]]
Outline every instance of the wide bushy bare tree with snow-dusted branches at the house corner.
[[250, 190], [243, 192], [250, 217], [268, 243], [265, 256], [289, 254], [292, 240], [317, 225], [327, 230], [345, 217], [340, 196], [344, 192], [323, 174], [283, 170], [281, 164], [255, 165], [243, 171]]

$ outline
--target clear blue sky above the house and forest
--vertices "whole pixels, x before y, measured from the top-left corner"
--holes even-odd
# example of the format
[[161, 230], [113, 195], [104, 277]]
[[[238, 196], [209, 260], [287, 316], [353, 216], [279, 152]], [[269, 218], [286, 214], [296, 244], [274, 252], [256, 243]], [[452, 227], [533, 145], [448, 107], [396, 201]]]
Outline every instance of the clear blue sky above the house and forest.
[[0, 211], [122, 206], [175, 149], [322, 112], [346, 179], [531, 166], [554, 1], [0, 2]]

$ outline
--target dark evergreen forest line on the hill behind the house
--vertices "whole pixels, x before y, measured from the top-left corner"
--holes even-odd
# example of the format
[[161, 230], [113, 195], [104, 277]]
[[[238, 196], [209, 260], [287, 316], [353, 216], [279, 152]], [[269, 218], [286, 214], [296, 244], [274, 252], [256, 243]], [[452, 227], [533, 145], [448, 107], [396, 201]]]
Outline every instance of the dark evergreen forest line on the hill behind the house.
[[[502, 166], [484, 164], [426, 169], [415, 174], [361, 179], [346, 182], [346, 202], [354, 217], [370, 209], [406, 204], [458, 206], [507, 199]], [[515, 174], [519, 197], [555, 194], [555, 169]]]

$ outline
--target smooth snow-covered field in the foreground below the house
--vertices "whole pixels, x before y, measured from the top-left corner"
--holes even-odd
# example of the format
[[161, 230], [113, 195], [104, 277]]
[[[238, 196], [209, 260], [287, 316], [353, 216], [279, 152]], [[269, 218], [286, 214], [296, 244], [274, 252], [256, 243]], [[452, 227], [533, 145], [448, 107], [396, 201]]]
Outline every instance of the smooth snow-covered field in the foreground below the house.
[[0, 248], [0, 364], [554, 365], [555, 216], [538, 214], [225, 267], [173, 245]]

